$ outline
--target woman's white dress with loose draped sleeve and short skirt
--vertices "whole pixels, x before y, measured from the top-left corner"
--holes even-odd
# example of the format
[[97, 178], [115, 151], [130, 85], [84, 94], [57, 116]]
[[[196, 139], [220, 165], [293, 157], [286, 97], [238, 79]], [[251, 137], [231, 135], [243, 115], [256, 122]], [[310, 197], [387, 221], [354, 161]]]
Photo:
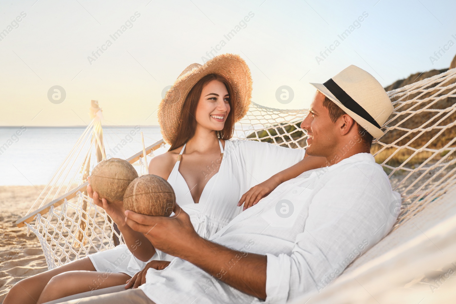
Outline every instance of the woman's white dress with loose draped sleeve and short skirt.
[[[185, 145], [181, 154], [184, 149]], [[209, 165], [207, 173], [217, 170], [217, 166], [220, 168], [208, 180], [199, 203], [194, 203], [188, 185], [179, 172], [180, 161], [176, 162], [168, 177], [176, 193], [177, 204], [189, 214], [195, 231], [204, 238], [211, 237], [242, 212], [243, 206], [238, 207], [238, 201], [251, 187], [301, 161], [305, 154], [303, 149], [252, 140], [226, 140], [225, 149], [221, 143], [220, 149], [223, 153], [221, 163]], [[88, 257], [97, 271], [126, 273], [131, 277], [149, 261], [171, 261], [174, 258], [157, 250], [148, 262], [142, 262], [135, 258], [125, 244]]]

